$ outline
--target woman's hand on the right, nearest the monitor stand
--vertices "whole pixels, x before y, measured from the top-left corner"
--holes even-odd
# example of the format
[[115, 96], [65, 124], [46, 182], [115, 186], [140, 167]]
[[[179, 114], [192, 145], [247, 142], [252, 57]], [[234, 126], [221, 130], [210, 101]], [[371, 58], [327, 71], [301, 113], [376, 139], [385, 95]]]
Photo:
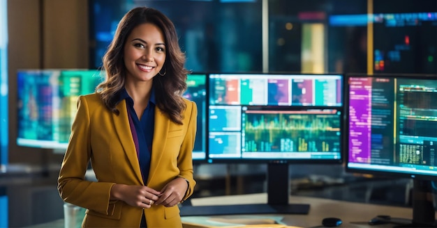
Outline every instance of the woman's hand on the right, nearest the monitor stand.
[[188, 184], [184, 178], [178, 177], [173, 179], [172, 181], [168, 182], [163, 189], [161, 189], [161, 195], [158, 195], [159, 199], [156, 200], [155, 204], [163, 206], [175, 206], [182, 201], [187, 189]]

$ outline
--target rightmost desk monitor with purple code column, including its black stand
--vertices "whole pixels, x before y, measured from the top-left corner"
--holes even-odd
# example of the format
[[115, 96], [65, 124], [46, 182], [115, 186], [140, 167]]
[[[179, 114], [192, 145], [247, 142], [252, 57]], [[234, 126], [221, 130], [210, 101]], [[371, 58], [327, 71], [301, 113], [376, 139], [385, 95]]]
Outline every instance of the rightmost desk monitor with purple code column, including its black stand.
[[414, 179], [413, 227], [435, 227], [437, 76], [351, 74], [346, 80], [346, 170]]

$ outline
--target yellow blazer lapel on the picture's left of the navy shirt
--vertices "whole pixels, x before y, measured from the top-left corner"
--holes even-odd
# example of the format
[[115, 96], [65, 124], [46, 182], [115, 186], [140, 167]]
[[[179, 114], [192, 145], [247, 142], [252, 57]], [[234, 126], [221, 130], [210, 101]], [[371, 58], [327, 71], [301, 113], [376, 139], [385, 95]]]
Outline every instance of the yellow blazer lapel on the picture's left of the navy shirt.
[[135, 177], [137, 177], [139, 183], [144, 185], [141, 176], [140, 164], [138, 163], [137, 151], [135, 149], [135, 143], [133, 142], [131, 127], [129, 125], [126, 101], [122, 100], [117, 105], [117, 109], [120, 111], [120, 114], [112, 114], [115, 130], [117, 131], [121, 145], [124, 148], [124, 152], [128, 157], [128, 161], [131, 163], [131, 168], [135, 172]]

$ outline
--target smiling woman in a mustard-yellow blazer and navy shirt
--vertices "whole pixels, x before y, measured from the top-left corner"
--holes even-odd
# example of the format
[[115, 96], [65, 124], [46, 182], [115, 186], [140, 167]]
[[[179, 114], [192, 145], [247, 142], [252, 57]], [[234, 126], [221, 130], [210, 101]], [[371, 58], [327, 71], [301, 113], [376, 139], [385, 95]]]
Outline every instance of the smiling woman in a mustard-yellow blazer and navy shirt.
[[[59, 172], [82, 227], [182, 227], [193, 193], [197, 107], [182, 98], [185, 56], [175, 26], [152, 8], [130, 10], [103, 57], [105, 81], [79, 97]], [[89, 161], [98, 181], [87, 181]]]

